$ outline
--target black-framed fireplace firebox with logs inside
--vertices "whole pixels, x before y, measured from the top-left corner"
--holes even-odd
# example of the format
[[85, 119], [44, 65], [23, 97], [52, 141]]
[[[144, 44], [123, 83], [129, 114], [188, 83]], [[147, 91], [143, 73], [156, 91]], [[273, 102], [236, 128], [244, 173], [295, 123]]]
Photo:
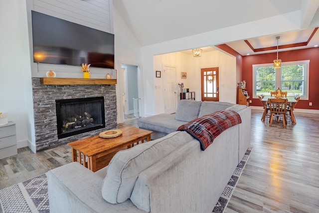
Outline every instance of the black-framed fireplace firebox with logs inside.
[[105, 128], [104, 97], [55, 100], [58, 139]]

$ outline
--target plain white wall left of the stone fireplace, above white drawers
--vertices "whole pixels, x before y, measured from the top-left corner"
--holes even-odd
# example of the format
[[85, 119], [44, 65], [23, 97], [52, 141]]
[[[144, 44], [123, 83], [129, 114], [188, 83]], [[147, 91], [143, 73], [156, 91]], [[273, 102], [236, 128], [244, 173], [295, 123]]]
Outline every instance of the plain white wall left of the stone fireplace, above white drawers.
[[[31, 138], [29, 108], [31, 73], [27, 34], [26, 3], [23, 0], [1, 0], [0, 8], [0, 112], [16, 124], [17, 146], [25, 147]], [[31, 100], [32, 102], [32, 100]]]

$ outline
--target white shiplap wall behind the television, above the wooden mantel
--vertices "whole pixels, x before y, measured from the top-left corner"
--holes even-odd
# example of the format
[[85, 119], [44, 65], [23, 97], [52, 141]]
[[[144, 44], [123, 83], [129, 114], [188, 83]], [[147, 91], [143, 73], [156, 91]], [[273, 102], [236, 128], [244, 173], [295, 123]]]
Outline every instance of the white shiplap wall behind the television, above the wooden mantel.
[[[114, 33], [112, 0], [27, 0], [30, 61], [32, 77], [45, 77], [49, 70], [57, 77], [83, 77], [77, 66], [55, 65], [33, 62], [31, 10], [78, 23], [101, 31]], [[105, 78], [112, 69], [91, 67], [91, 78]]]

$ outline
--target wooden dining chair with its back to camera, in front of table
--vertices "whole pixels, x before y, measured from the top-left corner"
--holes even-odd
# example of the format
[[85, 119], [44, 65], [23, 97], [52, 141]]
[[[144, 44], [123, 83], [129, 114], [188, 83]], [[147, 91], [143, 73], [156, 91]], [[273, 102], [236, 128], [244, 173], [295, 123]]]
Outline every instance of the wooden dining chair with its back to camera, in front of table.
[[269, 118], [269, 126], [273, 123], [273, 118], [276, 117], [277, 122], [280, 121], [280, 117], [283, 118], [284, 128], [286, 128], [287, 124], [287, 103], [288, 99], [286, 98], [269, 98], [268, 104], [270, 107], [270, 118]]

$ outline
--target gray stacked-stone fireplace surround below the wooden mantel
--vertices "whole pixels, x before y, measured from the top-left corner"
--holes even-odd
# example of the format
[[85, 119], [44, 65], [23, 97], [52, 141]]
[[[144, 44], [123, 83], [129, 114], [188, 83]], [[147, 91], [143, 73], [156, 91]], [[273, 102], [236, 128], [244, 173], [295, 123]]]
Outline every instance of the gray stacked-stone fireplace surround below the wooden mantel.
[[[32, 77], [36, 151], [38, 152], [41, 150], [50, 149], [61, 144], [77, 141], [93, 135], [98, 135], [100, 132], [105, 130], [117, 129], [117, 103], [115, 88], [115, 84], [42, 85], [40, 83], [40, 78]], [[69, 99], [80, 100], [89, 98], [89, 100], [92, 100], [97, 97], [102, 97], [104, 99], [105, 118], [104, 121], [100, 121], [101, 124], [96, 125], [99, 126], [99, 128], [89, 129], [88, 132], [78, 131], [77, 134], [67, 134], [66, 137], [58, 137], [58, 132], [60, 130], [58, 131], [56, 117], [56, 100], [58, 100], [58, 102], [65, 102], [64, 100]], [[84, 111], [86, 112], [88, 109]], [[80, 113], [77, 112], [77, 114]], [[92, 115], [90, 118], [92, 118]], [[89, 122], [89, 120], [87, 120], [87, 122]], [[87, 124], [89, 125], [88, 127], [90, 127], [90, 124]], [[102, 128], [100, 128], [101, 125]], [[73, 127], [75, 129], [75, 126]], [[59, 129], [60, 128], [61, 127], [59, 126]]]

